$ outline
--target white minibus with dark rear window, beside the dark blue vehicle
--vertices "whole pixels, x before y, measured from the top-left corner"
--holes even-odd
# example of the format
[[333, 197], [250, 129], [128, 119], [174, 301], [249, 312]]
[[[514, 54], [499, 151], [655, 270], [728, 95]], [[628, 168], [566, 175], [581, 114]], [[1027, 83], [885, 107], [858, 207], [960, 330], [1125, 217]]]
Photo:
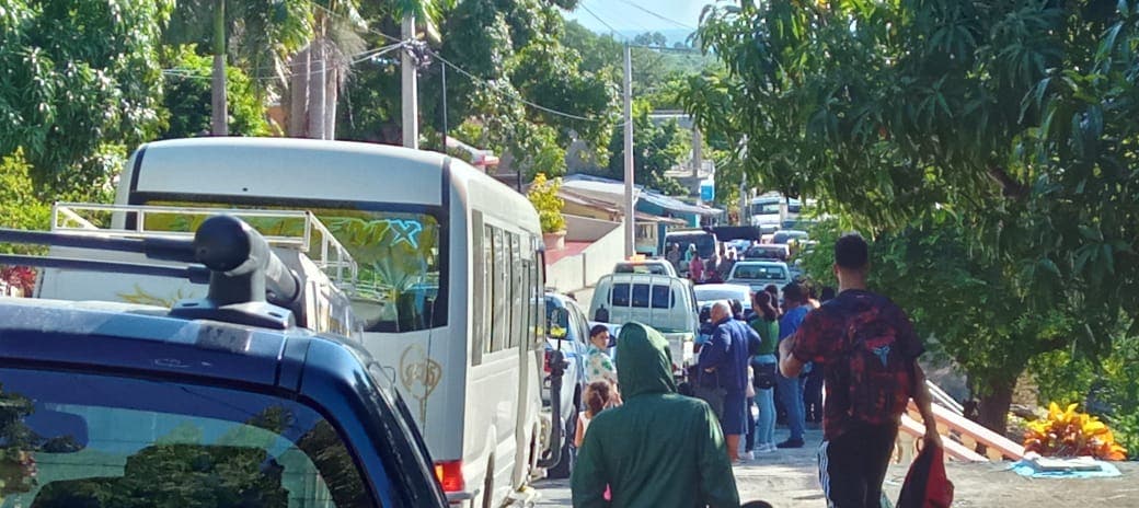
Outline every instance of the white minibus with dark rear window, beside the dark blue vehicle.
[[544, 311], [524, 196], [431, 151], [199, 138], [139, 147], [116, 203], [311, 211], [359, 265], [363, 346], [409, 401], [449, 499], [497, 507], [530, 492]]

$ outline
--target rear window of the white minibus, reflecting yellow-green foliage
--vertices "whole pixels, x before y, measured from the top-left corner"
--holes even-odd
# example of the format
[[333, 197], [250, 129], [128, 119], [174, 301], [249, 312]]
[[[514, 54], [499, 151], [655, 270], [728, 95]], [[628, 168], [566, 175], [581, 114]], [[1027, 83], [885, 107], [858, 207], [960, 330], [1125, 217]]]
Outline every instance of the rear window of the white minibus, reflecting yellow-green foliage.
[[[444, 273], [440, 238], [444, 232], [431, 213], [372, 208], [261, 206], [233, 203], [154, 200], [147, 205], [219, 208], [308, 210], [328, 227], [360, 267], [353, 298], [364, 331], [413, 331], [446, 323], [446, 310], [435, 309]], [[194, 231], [204, 216], [147, 214], [147, 229]], [[293, 218], [248, 220], [263, 235], [300, 233], [303, 221]], [[316, 235], [316, 231], [313, 232]], [[319, 238], [318, 238], [319, 239]], [[319, 241], [311, 243], [320, 248]], [[444, 298], [445, 300], [445, 298]]]

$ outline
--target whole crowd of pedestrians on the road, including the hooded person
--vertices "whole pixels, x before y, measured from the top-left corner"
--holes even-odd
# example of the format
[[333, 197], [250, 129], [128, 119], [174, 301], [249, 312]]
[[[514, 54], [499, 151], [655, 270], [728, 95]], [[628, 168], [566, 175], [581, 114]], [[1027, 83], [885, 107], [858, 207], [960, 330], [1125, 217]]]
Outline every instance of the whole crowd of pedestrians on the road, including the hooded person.
[[[718, 253], [705, 264], [693, 246], [685, 257], [697, 277], [734, 262]], [[680, 259], [679, 246], [669, 259]], [[603, 357], [608, 330], [595, 328], [574, 506], [739, 507], [732, 465], [802, 448], [808, 424], [821, 423], [828, 506], [878, 507], [911, 399], [926, 444], [940, 446], [941, 437], [917, 362], [924, 347], [904, 312], [867, 289], [868, 269], [866, 241], [846, 235], [835, 244], [837, 290], [770, 286], [751, 295], [746, 314], [741, 302], [715, 302], [702, 311], [698, 360], [679, 387], [669, 343], [655, 329], [622, 327], [617, 370]], [[777, 443], [780, 419], [787, 436]]]

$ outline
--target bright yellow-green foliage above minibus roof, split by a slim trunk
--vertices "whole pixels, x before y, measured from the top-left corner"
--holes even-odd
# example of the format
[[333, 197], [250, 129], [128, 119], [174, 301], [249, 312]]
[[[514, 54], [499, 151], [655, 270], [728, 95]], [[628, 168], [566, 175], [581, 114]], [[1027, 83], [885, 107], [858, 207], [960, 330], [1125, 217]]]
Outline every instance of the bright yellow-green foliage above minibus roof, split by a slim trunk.
[[[210, 132], [210, 115], [213, 110], [210, 75], [213, 59], [196, 54], [194, 46], [166, 48], [164, 52], [163, 62], [173, 72], [165, 76], [162, 105], [169, 120], [158, 138], [189, 138]], [[253, 80], [245, 72], [233, 66], [226, 67], [226, 95], [231, 134], [270, 133], [264, 107], [256, 97]]]

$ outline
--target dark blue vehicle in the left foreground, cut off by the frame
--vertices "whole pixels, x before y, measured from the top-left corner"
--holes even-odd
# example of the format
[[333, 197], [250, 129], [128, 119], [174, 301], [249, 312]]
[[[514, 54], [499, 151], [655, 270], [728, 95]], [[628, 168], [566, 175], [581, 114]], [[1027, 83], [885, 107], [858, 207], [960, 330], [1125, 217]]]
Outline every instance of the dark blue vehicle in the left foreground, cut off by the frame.
[[5, 506], [448, 506], [396, 372], [297, 327], [253, 235], [169, 239], [211, 281], [174, 309], [0, 297]]

